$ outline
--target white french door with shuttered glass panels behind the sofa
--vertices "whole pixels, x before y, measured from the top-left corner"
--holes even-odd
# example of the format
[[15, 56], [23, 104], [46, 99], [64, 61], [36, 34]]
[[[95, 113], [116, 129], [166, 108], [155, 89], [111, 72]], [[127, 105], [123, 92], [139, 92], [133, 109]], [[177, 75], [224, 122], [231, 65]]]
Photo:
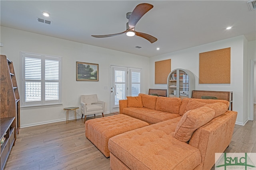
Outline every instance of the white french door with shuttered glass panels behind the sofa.
[[138, 96], [141, 89], [141, 69], [110, 66], [110, 113], [119, 111], [119, 100]]

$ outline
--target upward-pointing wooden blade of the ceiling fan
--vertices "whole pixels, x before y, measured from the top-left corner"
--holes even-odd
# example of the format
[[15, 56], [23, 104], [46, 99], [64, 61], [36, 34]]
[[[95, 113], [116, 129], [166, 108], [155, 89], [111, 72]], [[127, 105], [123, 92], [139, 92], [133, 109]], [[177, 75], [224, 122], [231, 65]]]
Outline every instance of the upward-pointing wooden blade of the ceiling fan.
[[128, 24], [130, 29], [134, 28], [136, 23], [146, 14], [149, 10], [153, 8], [153, 5], [151, 4], [138, 4], [134, 10], [132, 11], [132, 14], [129, 18]]

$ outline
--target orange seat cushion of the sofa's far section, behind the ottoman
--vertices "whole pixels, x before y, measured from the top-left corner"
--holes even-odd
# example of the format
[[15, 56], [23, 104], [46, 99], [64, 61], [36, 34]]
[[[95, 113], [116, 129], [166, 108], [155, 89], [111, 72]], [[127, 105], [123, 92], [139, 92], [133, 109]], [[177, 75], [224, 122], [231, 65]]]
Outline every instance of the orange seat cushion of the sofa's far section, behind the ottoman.
[[122, 113], [151, 124], [180, 117], [180, 115], [176, 113], [157, 111], [146, 107], [126, 107], [123, 109]]

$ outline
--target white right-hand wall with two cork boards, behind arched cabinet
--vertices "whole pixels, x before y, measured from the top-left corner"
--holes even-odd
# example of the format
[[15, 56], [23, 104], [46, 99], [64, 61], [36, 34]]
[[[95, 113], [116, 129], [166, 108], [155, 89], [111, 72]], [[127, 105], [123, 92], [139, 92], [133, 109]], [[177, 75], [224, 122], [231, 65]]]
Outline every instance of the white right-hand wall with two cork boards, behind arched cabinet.
[[[171, 59], [171, 70], [184, 68], [193, 72], [196, 80], [195, 90], [212, 90], [212, 91], [232, 91], [233, 92], [233, 110], [238, 112], [236, 123], [244, 125], [248, 120], [247, 112], [247, 87], [244, 87], [243, 76], [244, 69], [244, 36], [233, 37], [216, 41], [189, 49], [184, 49], [165, 55], [159, 55], [150, 58], [150, 75], [154, 75], [154, 63]], [[231, 83], [230, 84], [199, 84], [199, 53], [224, 49], [231, 47]], [[246, 49], [247, 50], [247, 49]], [[246, 65], [246, 64], [245, 64]], [[246, 71], [247, 72], [247, 71]], [[247, 78], [246, 78], [247, 79]], [[248, 82], [245, 82], [245, 84]], [[247, 85], [246, 85], [247, 86]], [[154, 76], [150, 76], [150, 88], [166, 89], [167, 85], [154, 84]], [[244, 94], [246, 91], [246, 94]], [[246, 97], [245, 97], [246, 96]], [[246, 108], [245, 108], [246, 107]]]

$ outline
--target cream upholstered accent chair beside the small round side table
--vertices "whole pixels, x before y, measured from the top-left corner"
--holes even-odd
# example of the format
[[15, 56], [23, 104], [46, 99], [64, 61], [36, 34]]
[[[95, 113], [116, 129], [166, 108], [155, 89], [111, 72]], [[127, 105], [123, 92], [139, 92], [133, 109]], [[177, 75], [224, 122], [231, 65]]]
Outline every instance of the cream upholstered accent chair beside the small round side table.
[[82, 118], [84, 115], [84, 123], [86, 120], [86, 115], [93, 115], [95, 116], [96, 113], [102, 113], [102, 117], [104, 117], [104, 110], [105, 110], [105, 102], [99, 101], [97, 98], [97, 94], [92, 95], [81, 95], [81, 111], [82, 111]]

